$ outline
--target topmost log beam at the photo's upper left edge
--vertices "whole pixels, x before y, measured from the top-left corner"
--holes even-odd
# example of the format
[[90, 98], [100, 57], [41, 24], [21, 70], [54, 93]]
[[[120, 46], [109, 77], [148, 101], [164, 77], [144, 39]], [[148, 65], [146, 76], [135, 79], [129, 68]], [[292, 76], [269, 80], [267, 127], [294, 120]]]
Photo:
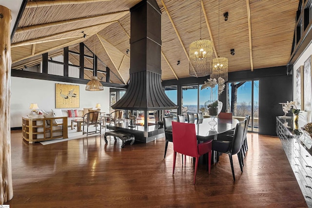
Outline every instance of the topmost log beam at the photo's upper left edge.
[[39, 1], [28, 1], [26, 8], [41, 7], [41, 6], [55, 6], [55, 5], [65, 5], [65, 4], [79, 4], [79, 3], [94, 3], [100, 1], [110, 1], [110, 0], [39, 0]]

